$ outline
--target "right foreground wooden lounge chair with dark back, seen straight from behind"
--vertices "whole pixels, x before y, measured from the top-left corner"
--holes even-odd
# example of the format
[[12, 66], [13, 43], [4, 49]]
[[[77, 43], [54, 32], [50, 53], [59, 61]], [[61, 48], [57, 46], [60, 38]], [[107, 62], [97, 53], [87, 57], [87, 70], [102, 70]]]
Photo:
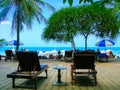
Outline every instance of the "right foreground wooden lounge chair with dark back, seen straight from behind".
[[97, 84], [97, 71], [95, 70], [95, 52], [81, 51], [74, 53], [73, 64], [71, 65], [72, 84], [76, 82], [77, 76], [88, 76]]

